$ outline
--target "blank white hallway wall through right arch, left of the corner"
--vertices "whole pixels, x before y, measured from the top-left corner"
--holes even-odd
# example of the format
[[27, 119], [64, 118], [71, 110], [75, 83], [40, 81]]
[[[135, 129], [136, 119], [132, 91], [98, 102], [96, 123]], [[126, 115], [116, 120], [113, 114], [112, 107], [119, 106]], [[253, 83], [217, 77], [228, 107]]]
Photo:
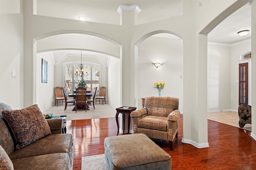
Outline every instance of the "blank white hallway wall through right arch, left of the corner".
[[231, 46], [208, 45], [208, 111], [230, 109]]

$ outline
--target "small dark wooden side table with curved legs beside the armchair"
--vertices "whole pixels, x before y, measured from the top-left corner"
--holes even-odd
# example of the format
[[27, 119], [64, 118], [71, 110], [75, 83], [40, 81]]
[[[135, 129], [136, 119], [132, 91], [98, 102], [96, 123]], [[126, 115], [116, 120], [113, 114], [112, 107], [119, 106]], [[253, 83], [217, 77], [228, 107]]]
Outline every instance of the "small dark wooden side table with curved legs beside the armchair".
[[128, 109], [124, 109], [123, 107], [119, 107], [119, 108], [116, 108], [116, 124], [117, 124], [117, 135], [118, 136], [118, 133], [119, 133], [119, 122], [118, 122], [118, 115], [119, 113], [122, 113], [124, 116], [123, 118], [123, 124], [124, 124], [124, 119], [125, 119], [125, 114], [128, 115], [128, 134], [130, 132], [130, 121], [131, 121], [131, 117], [130, 117], [130, 114], [132, 111], [136, 110], [137, 107], [129, 107]]

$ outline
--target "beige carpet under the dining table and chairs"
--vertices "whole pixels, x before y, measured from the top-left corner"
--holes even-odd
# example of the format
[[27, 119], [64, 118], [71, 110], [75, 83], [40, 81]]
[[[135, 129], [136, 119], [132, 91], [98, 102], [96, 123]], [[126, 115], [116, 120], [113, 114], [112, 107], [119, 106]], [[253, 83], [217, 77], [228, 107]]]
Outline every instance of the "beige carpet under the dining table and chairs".
[[98, 118], [108, 118], [116, 117], [116, 109], [109, 104], [97, 104], [95, 109], [90, 106], [90, 110], [77, 110], [72, 111], [74, 106], [68, 106], [64, 111], [64, 105], [52, 106], [49, 109], [43, 111], [43, 113], [53, 113], [53, 116], [67, 115], [66, 120], [79, 120], [79, 119], [98, 119]]

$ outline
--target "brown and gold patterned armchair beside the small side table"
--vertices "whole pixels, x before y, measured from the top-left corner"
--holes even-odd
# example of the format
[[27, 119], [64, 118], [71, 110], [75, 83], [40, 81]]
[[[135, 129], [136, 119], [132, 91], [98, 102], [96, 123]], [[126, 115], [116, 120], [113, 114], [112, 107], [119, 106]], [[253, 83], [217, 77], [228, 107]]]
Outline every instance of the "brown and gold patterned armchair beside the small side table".
[[134, 120], [134, 133], [169, 141], [170, 150], [173, 150], [172, 142], [178, 137], [178, 109], [178, 98], [147, 97], [144, 108], [130, 115]]

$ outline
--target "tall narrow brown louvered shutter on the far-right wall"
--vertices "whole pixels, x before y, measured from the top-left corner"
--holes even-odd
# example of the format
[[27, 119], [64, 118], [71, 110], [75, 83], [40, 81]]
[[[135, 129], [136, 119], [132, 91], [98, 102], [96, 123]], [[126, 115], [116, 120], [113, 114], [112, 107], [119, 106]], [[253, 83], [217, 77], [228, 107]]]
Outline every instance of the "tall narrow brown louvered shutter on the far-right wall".
[[248, 63], [239, 64], [239, 105], [248, 104]]

